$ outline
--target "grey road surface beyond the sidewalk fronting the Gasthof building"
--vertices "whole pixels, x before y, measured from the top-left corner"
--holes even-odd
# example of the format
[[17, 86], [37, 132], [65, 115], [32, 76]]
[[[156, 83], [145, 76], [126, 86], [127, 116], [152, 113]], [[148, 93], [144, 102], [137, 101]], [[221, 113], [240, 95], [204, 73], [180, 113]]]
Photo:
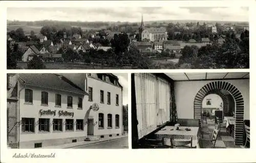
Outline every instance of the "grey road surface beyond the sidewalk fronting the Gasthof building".
[[128, 137], [99, 142], [84, 146], [73, 147], [74, 149], [128, 149]]

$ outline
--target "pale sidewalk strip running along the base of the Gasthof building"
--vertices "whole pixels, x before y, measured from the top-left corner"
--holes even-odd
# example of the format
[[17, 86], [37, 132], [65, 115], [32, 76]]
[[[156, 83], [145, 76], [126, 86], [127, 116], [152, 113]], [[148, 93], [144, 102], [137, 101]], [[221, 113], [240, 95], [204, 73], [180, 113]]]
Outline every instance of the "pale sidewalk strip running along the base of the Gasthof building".
[[72, 148], [72, 147], [77, 147], [77, 146], [84, 146], [84, 145], [91, 145], [95, 143], [100, 143], [100, 142], [106, 142], [106, 141], [111, 141], [111, 140], [116, 140], [116, 139], [121, 139], [121, 138], [128, 138], [128, 134], [121, 135], [120, 137], [112, 137], [112, 138], [101, 138], [99, 141], [81, 141], [81, 142], [76, 142], [76, 143], [67, 143], [67, 144], [61, 144], [57, 146], [47, 146], [47, 147], [41, 147], [38, 149], [65, 149], [65, 148]]

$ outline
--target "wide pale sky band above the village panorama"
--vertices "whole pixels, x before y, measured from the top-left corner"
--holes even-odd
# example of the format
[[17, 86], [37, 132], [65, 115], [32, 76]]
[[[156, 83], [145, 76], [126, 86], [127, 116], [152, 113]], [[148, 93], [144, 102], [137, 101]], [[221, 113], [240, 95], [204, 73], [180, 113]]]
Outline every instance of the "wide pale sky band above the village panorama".
[[128, 21], [212, 20], [248, 21], [248, 7], [87, 7], [7, 8], [8, 20]]

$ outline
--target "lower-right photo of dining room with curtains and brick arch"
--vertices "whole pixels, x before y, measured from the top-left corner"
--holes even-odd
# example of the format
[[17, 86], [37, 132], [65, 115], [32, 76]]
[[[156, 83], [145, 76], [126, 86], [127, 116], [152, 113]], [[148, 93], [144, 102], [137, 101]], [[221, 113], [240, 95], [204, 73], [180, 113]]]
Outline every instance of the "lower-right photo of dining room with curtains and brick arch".
[[132, 74], [133, 148], [250, 148], [249, 72]]

